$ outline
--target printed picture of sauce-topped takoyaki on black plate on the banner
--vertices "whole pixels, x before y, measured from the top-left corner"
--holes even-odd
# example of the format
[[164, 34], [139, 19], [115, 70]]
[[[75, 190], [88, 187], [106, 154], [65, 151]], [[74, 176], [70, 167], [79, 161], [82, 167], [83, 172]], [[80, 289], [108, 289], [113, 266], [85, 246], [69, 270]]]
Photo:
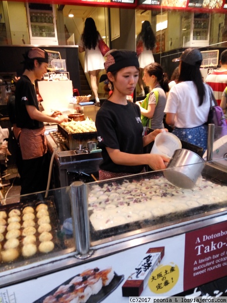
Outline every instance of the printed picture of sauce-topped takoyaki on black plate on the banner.
[[33, 303], [99, 303], [115, 290], [124, 275], [117, 275], [112, 267], [88, 269], [67, 280]]

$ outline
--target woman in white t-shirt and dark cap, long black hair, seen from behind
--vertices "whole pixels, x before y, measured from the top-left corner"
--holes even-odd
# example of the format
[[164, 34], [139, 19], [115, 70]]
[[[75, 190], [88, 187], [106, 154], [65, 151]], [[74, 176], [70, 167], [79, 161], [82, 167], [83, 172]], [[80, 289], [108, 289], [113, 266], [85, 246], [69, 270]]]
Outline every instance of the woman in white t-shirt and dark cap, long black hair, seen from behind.
[[179, 80], [168, 93], [164, 112], [166, 123], [179, 139], [207, 149], [207, 119], [210, 109], [209, 87], [200, 72], [202, 54], [188, 48], [180, 58]]

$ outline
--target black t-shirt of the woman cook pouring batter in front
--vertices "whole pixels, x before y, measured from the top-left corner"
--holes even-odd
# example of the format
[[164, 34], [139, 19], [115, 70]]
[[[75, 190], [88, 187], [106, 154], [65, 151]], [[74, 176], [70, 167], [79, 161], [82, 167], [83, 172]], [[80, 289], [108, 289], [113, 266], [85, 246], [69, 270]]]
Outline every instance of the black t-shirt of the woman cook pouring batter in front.
[[143, 125], [140, 115], [140, 108], [135, 103], [119, 105], [104, 101], [95, 118], [98, 146], [102, 149], [103, 158], [100, 169], [115, 173], [141, 172], [143, 165], [126, 166], [113, 163], [105, 148], [107, 146], [120, 149], [124, 153], [143, 154]]

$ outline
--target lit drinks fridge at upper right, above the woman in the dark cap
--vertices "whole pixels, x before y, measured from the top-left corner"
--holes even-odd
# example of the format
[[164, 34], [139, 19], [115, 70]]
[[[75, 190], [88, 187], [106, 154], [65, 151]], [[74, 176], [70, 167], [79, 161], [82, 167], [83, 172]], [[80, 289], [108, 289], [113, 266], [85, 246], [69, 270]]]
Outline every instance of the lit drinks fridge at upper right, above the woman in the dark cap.
[[210, 15], [184, 13], [181, 17], [181, 44], [183, 47], [209, 45]]

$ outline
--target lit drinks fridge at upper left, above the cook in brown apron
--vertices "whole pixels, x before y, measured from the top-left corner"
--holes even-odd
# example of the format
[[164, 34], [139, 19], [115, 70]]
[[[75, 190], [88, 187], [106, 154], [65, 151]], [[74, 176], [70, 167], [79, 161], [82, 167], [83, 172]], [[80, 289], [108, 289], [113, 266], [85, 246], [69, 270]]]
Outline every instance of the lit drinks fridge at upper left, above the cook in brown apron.
[[31, 44], [58, 45], [55, 11], [41, 10], [27, 3], [27, 18]]

